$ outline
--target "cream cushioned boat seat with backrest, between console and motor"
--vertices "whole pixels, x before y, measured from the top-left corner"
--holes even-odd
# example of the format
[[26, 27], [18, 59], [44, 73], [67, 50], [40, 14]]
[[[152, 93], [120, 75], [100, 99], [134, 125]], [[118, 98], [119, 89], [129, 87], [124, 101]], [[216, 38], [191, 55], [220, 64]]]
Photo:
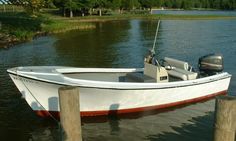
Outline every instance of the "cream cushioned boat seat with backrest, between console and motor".
[[164, 58], [165, 66], [171, 66], [172, 69], [167, 70], [170, 76], [180, 78], [182, 80], [193, 80], [197, 78], [198, 73], [189, 71], [189, 64], [173, 58]]

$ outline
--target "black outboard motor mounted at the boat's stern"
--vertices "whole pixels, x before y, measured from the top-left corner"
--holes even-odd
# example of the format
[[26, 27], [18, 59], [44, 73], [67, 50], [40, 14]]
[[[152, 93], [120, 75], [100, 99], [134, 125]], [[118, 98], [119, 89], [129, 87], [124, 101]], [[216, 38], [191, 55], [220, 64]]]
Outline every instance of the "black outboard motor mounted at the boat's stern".
[[221, 54], [208, 54], [202, 56], [198, 60], [198, 67], [201, 73], [205, 73], [207, 75], [222, 72], [224, 68], [223, 56]]

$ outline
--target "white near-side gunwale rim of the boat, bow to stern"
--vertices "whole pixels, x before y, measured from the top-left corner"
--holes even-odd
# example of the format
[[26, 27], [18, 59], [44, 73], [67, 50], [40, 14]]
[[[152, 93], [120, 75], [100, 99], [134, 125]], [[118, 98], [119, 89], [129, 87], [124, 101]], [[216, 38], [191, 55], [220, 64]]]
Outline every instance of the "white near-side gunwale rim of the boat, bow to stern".
[[[76, 69], [79, 69], [79, 68], [76, 68]], [[87, 68], [87, 69], [92, 69], [92, 68]], [[102, 70], [104, 68], [99, 68], [99, 69]], [[116, 70], [116, 69], [109, 69], [109, 70]], [[126, 69], [126, 70], [134, 70], [134, 69]], [[105, 82], [105, 81], [95, 81], [95, 80], [85, 80], [85, 79], [74, 79], [74, 78], [66, 77], [62, 73], [58, 73], [60, 77], [62, 77], [64, 80], [67, 80], [66, 82], [58, 82], [58, 81], [52, 81], [48, 79], [42, 79], [42, 78], [37, 78], [37, 77], [26, 75], [26, 74], [17, 73], [17, 71], [14, 72], [10, 69], [8, 69], [7, 72], [9, 74], [21, 76], [27, 79], [33, 79], [35, 81], [41, 81], [41, 82], [52, 83], [52, 84], [63, 85], [63, 86], [78, 86], [78, 87], [83, 87], [83, 88], [118, 89], [118, 90], [134, 90], [134, 89], [146, 90], [146, 89], [168, 89], [168, 88], [186, 87], [186, 86], [211, 83], [214, 81], [231, 78], [232, 76], [231, 74], [227, 72], [222, 72], [220, 74], [216, 74], [216, 75], [204, 77], [204, 78], [198, 78], [195, 80], [167, 82], [167, 83], [137, 83], [137, 82]], [[89, 73], [89, 72], [86, 72], [86, 73]]]

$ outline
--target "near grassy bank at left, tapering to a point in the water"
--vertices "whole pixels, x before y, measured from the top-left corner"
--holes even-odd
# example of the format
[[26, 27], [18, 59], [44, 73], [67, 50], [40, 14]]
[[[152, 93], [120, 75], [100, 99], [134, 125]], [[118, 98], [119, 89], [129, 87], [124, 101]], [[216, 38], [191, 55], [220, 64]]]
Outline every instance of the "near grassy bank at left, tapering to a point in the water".
[[32, 40], [36, 36], [95, 28], [93, 23], [53, 19], [43, 14], [31, 17], [26, 13], [0, 13], [0, 47]]

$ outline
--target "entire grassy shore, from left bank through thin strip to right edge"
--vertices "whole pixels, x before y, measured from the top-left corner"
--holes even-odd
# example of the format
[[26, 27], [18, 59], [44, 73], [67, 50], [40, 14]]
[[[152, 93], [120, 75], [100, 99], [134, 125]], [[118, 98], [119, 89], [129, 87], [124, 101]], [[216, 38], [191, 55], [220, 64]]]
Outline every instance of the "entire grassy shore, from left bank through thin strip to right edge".
[[202, 19], [236, 19], [235, 16], [219, 15], [160, 15], [160, 14], [117, 14], [109, 16], [85, 16], [67, 18], [48, 13], [31, 17], [23, 12], [0, 13], [0, 47], [32, 40], [35, 36], [96, 28], [93, 22], [148, 19], [148, 20], [202, 20]]

